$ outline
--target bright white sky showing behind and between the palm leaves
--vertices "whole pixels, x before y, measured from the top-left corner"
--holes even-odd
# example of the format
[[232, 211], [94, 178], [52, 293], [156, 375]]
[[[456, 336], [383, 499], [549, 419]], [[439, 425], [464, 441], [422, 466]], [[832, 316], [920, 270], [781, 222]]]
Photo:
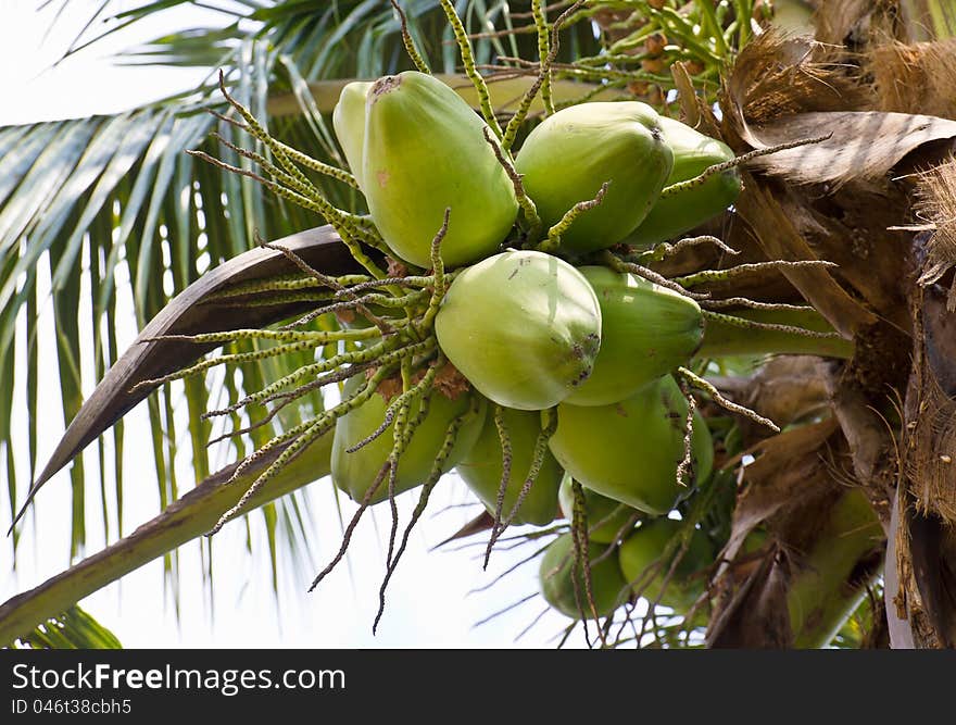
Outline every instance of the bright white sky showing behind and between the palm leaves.
[[[203, 75], [192, 71], [164, 68], [115, 67], [110, 53], [136, 42], [158, 37], [183, 27], [222, 22], [215, 13], [189, 9], [167, 13], [158, 22], [135, 26], [133, 32], [114, 36], [89, 51], [81, 52], [55, 68], [58, 60], [78, 27], [89, 17], [99, 0], [73, 0], [66, 12], [51, 29], [59, 0], [43, 12], [36, 0], [0, 0], [0, 125], [42, 120], [110, 113], [188, 88]], [[120, 1], [115, 7], [130, 8], [139, 2]], [[49, 268], [40, 270], [41, 285], [49, 288]], [[86, 279], [86, 276], [84, 276]], [[43, 282], [46, 280], [46, 282]], [[42, 287], [41, 287], [42, 289]], [[128, 291], [121, 285], [121, 310], [129, 309]], [[124, 299], [125, 298], [125, 299]], [[83, 292], [80, 299], [88, 299]], [[42, 301], [41, 301], [42, 305]], [[88, 310], [80, 310], [80, 320], [89, 318]], [[38, 458], [46, 462], [64, 430], [60, 409], [55, 351], [49, 303], [43, 305], [40, 324], [40, 421]], [[136, 336], [133, 315], [118, 315], [125, 324], [120, 329], [120, 345], [128, 345]], [[88, 335], [88, 333], [84, 333]], [[86, 338], [88, 339], [88, 337]], [[21, 346], [21, 349], [22, 346]], [[89, 361], [87, 361], [89, 362]], [[18, 365], [23, 370], [24, 365]], [[17, 378], [21, 391], [23, 380]], [[91, 366], [84, 370], [84, 390], [88, 395], [95, 385]], [[21, 393], [16, 421], [26, 423]], [[185, 408], [185, 403], [183, 405]], [[180, 430], [185, 426], [180, 426]], [[26, 440], [15, 450], [18, 463], [20, 497], [26, 490]], [[144, 407], [140, 405], [126, 417], [125, 450], [125, 525], [129, 533], [159, 511], [159, 497], [152, 473], [152, 452], [148, 446], [149, 433]], [[141, 441], [137, 445], [137, 441]], [[186, 446], [185, 448], [188, 448]], [[100, 525], [101, 501], [98, 492], [99, 472], [95, 447], [87, 449], [87, 553], [103, 545]], [[108, 458], [112, 452], [108, 452]], [[180, 457], [181, 459], [183, 457]], [[140, 463], [148, 461], [148, 463]], [[191, 470], [188, 460], [177, 461], [181, 480], [188, 480]], [[5, 478], [5, 473], [0, 473]], [[7, 482], [0, 483], [0, 507], [9, 511]], [[108, 482], [108, 487], [112, 482]], [[405, 496], [404, 516], [417, 497]], [[429, 511], [443, 505], [470, 500], [467, 490], [451, 477], [436, 490], [439, 499], [429, 504]], [[277, 610], [272, 592], [265, 558], [265, 538], [254, 530], [253, 553], [246, 547], [241, 523], [228, 525], [214, 543], [215, 612], [211, 614], [203, 593], [202, 563], [199, 546], [193, 543], [180, 550], [180, 617], [174, 614], [172, 598], [163, 587], [160, 561], [127, 575], [121, 583], [102, 589], [81, 602], [101, 623], [110, 627], [127, 648], [144, 647], [554, 647], [567, 620], [549, 612], [530, 633], [517, 643], [514, 638], [545, 609], [540, 597], [525, 602], [492, 623], [474, 625], [496, 610], [531, 595], [537, 590], [537, 560], [506, 576], [488, 591], [469, 596], [469, 590], [489, 584], [495, 574], [529, 555], [533, 548], [502, 551], [492, 559], [488, 573], [481, 571], [478, 555], [483, 546], [466, 551], [428, 552], [428, 549], [480, 509], [451, 509], [426, 517], [413, 536], [408, 551], [393, 577], [389, 589], [389, 605], [376, 637], [372, 622], [378, 604], [378, 586], [383, 573], [383, 552], [387, 543], [388, 511], [376, 511], [375, 522], [365, 521], [353, 540], [349, 565], [342, 565], [314, 593], [306, 593], [307, 582], [337, 551], [341, 524], [331, 505], [330, 484], [323, 482], [310, 487], [313, 511], [314, 562], [299, 571], [280, 573], [280, 603]], [[68, 565], [70, 477], [64, 471], [54, 477], [39, 495], [34, 512], [23, 527], [17, 568], [11, 571], [9, 540], [0, 546], [0, 601], [36, 586]], [[110, 504], [113, 505], [113, 501]], [[387, 509], [387, 507], [386, 507]], [[347, 512], [347, 515], [351, 511]], [[5, 515], [5, 514], [4, 514]], [[257, 523], [257, 518], [253, 518]], [[0, 522], [2, 523], [2, 522]], [[374, 525], [373, 525], [374, 524]], [[8, 524], [3, 523], [3, 529]], [[474, 539], [483, 543], [483, 539]], [[579, 630], [580, 632], [580, 630]], [[568, 646], [581, 646], [579, 635]]]

